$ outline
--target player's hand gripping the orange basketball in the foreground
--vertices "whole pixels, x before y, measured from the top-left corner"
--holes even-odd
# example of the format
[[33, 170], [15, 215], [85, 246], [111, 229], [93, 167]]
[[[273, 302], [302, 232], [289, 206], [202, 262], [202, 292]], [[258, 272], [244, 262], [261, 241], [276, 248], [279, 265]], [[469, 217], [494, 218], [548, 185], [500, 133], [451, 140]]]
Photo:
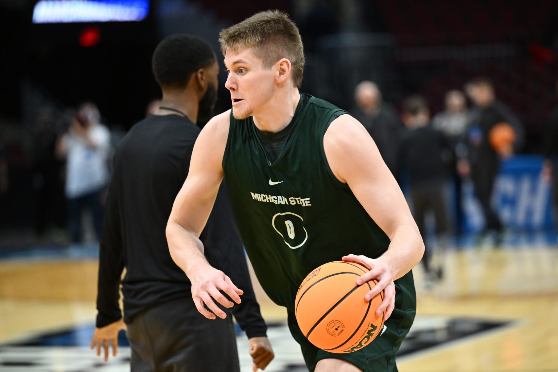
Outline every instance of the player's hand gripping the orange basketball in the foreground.
[[384, 299], [378, 309], [376, 310], [376, 316], [381, 315], [381, 313], [386, 310], [384, 314], [384, 320], [387, 320], [395, 308], [395, 283], [393, 283], [393, 275], [391, 269], [378, 259], [369, 258], [363, 255], [349, 254], [343, 257], [345, 262], [356, 262], [363, 265], [365, 268], [370, 270], [362, 277], [357, 279], [357, 284], [363, 284], [369, 282], [372, 279], [376, 279], [378, 282], [372, 291], [368, 292], [364, 299], [370, 301], [371, 298], [376, 296], [376, 294], [384, 291]]

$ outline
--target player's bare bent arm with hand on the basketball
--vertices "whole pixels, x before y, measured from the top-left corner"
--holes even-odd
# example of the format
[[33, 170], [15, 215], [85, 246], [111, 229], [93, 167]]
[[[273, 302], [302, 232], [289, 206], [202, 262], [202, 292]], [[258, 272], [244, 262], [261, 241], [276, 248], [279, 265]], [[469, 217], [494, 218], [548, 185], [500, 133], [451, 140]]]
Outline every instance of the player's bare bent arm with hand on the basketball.
[[357, 281], [376, 279], [378, 284], [366, 295], [384, 289], [384, 301], [377, 314], [386, 310], [387, 319], [395, 306], [394, 280], [419, 263], [424, 243], [411, 211], [395, 178], [368, 132], [350, 115], [335, 119], [324, 136], [324, 151], [331, 171], [347, 183], [357, 200], [391, 240], [388, 250], [377, 259], [347, 255], [343, 260], [358, 262], [370, 271]]

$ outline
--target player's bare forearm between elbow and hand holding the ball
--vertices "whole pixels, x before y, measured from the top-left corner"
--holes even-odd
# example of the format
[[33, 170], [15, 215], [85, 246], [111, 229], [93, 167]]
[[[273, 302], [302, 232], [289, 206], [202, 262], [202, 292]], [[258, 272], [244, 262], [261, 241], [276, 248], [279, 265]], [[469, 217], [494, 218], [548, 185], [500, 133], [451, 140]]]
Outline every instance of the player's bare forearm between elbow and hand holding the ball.
[[393, 230], [388, 250], [378, 260], [391, 269], [395, 280], [410, 272], [423, 253], [424, 243], [416, 225], [400, 225]]

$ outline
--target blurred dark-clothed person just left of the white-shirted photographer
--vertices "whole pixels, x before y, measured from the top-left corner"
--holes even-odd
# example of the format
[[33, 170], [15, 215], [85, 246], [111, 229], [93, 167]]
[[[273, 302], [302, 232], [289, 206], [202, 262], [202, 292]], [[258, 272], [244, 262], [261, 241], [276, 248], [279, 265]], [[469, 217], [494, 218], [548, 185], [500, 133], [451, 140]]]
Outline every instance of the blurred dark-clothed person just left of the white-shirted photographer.
[[43, 235], [49, 226], [62, 228], [59, 194], [62, 184], [62, 162], [57, 159], [54, 110], [43, 106], [33, 135], [33, 188], [35, 189], [35, 233]]

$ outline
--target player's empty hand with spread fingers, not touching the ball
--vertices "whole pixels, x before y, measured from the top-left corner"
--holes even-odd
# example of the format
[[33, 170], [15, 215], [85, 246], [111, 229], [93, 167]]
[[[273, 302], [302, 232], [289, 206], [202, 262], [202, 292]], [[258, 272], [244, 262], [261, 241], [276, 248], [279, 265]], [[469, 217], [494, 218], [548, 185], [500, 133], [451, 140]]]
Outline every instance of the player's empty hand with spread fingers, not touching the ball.
[[[215, 315], [224, 319], [227, 314], [221, 310], [213, 299], [216, 299], [224, 307], [233, 307], [234, 303], [230, 302], [227, 297], [223, 296], [223, 291], [228, 294], [234, 302], [240, 303], [240, 294], [243, 294], [242, 289], [238, 289], [237, 286], [230, 281], [230, 278], [225, 275], [221, 270], [211, 267], [209, 264], [200, 264], [195, 269], [189, 272], [189, 279], [192, 282], [192, 299], [196, 308], [208, 319], [215, 319]], [[209, 308], [208, 311], [205, 305]]]

